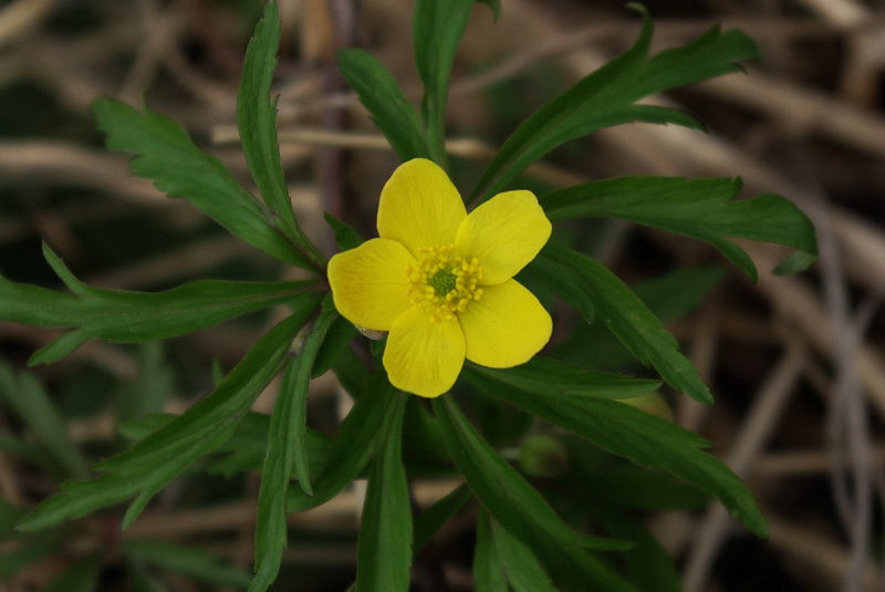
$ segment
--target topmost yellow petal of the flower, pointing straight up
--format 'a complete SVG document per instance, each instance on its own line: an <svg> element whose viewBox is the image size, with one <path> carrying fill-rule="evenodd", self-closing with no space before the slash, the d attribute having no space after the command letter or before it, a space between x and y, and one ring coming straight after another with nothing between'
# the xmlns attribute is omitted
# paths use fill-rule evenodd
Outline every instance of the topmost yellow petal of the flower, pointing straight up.
<svg viewBox="0 0 885 592"><path fill-rule="evenodd" d="M378 235L402 242L417 257L421 247L455 242L466 217L461 196L446 172L415 158L399 165L381 191Z"/></svg>

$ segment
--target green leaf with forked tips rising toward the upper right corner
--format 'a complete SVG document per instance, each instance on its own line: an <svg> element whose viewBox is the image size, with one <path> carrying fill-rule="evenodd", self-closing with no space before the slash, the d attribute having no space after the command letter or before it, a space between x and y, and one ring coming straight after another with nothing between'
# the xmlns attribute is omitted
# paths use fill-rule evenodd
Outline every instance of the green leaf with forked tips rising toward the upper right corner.
<svg viewBox="0 0 885 592"><path fill-rule="evenodd" d="M652 19L644 8L636 43L542 106L504 142L471 195L486 200L502 190L527 166L556 146L603 127L631 122L700 127L694 117L670 108L635 104L648 95L740 71L735 62L756 59L759 50L743 32L711 29L681 48L647 59Z"/></svg>

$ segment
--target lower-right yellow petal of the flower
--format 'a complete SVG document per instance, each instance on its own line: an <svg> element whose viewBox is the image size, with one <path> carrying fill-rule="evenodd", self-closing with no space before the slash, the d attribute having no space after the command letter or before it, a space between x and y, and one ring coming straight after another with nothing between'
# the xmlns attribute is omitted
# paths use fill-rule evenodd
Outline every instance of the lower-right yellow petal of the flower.
<svg viewBox="0 0 885 592"><path fill-rule="evenodd" d="M467 359L493 368L528 362L550 341L550 314L517 280L482 290L482 298L458 314Z"/></svg>

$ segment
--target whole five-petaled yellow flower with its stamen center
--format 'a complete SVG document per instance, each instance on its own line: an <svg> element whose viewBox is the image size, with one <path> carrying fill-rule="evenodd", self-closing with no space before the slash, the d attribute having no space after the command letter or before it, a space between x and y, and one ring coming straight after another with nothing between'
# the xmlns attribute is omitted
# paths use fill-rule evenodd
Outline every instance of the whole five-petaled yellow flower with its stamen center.
<svg viewBox="0 0 885 592"><path fill-rule="evenodd" d="M446 173L416 158L381 194L378 235L329 262L335 307L388 331L391 383L425 397L451 388L465 359L528 362L550 340L550 314L513 279L550 238L531 191L507 191L469 215Z"/></svg>

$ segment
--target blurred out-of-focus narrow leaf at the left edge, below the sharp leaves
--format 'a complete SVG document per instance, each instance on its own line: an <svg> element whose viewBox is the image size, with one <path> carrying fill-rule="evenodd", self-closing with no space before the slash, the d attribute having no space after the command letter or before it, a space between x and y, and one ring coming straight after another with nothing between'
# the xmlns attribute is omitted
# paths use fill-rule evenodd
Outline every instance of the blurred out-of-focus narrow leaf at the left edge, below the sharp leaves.
<svg viewBox="0 0 885 592"><path fill-rule="evenodd" d="M0 401L15 412L69 477L88 475L85 459L67 435L64 418L37 378L27 372L15 375L9 364L0 363Z"/></svg>

